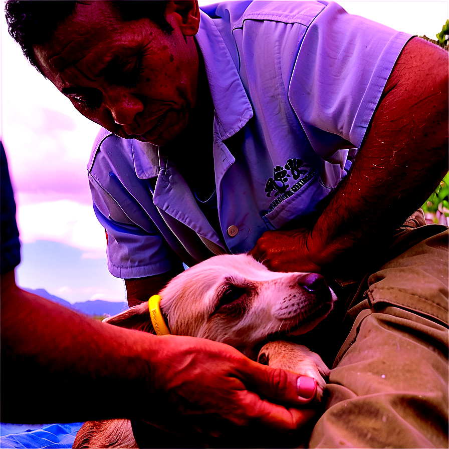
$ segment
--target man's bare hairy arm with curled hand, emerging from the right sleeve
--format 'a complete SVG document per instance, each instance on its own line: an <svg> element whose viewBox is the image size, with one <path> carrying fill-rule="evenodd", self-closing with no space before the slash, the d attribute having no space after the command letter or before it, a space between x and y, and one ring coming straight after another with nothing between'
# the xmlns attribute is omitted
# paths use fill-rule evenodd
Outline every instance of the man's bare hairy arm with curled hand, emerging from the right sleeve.
<svg viewBox="0 0 449 449"><path fill-rule="evenodd" d="M274 271L320 272L350 249L382 248L448 170L447 59L422 39L406 44L351 171L312 229L266 232L256 259Z"/></svg>

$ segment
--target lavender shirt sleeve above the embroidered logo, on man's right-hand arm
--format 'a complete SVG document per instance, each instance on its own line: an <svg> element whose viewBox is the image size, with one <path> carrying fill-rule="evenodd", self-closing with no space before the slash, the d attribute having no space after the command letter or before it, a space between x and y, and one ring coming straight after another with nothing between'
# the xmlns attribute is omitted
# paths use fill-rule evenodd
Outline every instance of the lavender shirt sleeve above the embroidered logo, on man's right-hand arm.
<svg viewBox="0 0 449 449"><path fill-rule="evenodd" d="M339 149L360 148L411 35L321 3L327 6L301 43L289 100L316 153L331 161Z"/></svg>

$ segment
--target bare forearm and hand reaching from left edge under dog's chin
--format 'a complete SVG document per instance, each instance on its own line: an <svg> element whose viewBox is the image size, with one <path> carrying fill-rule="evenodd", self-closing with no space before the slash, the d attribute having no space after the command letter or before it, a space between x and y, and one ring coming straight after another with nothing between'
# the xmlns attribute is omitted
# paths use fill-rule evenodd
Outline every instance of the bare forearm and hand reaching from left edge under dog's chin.
<svg viewBox="0 0 449 449"><path fill-rule="evenodd" d="M228 345L96 321L20 289L14 271L2 276L1 295L4 422L171 422L175 414L194 416L198 427L216 421L218 429L234 423L291 431L314 414L290 408L314 395L298 375Z"/></svg>

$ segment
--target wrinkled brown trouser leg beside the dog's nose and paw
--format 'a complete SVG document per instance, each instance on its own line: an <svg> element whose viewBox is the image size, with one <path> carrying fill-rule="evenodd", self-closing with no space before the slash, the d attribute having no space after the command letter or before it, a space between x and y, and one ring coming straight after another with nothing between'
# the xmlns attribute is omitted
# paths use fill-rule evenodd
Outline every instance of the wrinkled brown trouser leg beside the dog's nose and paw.
<svg viewBox="0 0 449 449"><path fill-rule="evenodd" d="M342 325L352 328L310 447L448 447L448 236L441 229L401 236L408 249L369 276L365 294L352 301Z"/></svg>

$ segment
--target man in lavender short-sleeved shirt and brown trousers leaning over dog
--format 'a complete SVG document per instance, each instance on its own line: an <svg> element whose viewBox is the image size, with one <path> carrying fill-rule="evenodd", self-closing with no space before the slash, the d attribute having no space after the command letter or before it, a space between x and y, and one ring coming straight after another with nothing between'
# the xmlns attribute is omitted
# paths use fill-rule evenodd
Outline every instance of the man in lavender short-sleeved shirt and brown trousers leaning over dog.
<svg viewBox="0 0 449 449"><path fill-rule="evenodd" d="M447 54L327 2L231 2L205 11L167 2L162 18L150 19L119 2L78 4L49 36L24 46L105 128L88 170L110 272L125 278L132 305L181 262L221 252L249 251L272 270L325 272L336 288L391 269L384 283L380 272L366 276L367 297L338 292L349 298L337 310L331 361L339 354L310 444L445 444L439 424L411 422L417 413L409 406L374 406L367 397L391 391L404 403L403 385L419 383L422 372L404 369L405 361L431 357L429 348L418 350L424 345L410 346L417 313L432 323L419 326L445 334L443 256L412 258L414 293L398 284L407 251L444 251L435 243L440 229L393 236L447 171ZM424 269L429 263L437 264L435 278ZM421 284L436 290L421 295ZM396 335L398 321L408 337ZM347 361L369 352L361 335L370 333L379 342L374 365L400 372L402 383L398 374L374 382L365 365L354 378ZM446 358L435 363L445 382L442 389L430 382L441 411ZM343 406L357 425L343 419ZM381 411L388 424L379 429L373 421Z"/></svg>

